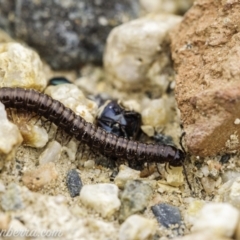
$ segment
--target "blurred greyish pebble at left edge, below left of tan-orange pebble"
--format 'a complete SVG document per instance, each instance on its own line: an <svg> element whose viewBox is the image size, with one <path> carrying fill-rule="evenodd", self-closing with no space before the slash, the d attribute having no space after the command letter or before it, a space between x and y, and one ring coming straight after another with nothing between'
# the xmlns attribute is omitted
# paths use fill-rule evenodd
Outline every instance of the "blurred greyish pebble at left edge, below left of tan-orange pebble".
<svg viewBox="0 0 240 240"><path fill-rule="evenodd" d="M8 185L7 190L1 197L1 200L0 204L4 211L13 211L24 208L19 186L15 183L10 183Z"/></svg>

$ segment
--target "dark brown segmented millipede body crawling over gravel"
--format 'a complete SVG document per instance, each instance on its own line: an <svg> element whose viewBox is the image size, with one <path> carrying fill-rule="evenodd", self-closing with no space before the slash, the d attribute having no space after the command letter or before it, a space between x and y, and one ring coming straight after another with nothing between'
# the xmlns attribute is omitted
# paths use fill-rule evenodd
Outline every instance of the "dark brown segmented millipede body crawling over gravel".
<svg viewBox="0 0 240 240"><path fill-rule="evenodd" d="M87 144L94 152L107 157L128 160L129 163L169 163L182 166L185 153L170 145L146 144L117 137L100 127L86 122L71 109L50 96L33 89L0 88L0 102L6 108L24 109L53 122L78 141Z"/></svg>

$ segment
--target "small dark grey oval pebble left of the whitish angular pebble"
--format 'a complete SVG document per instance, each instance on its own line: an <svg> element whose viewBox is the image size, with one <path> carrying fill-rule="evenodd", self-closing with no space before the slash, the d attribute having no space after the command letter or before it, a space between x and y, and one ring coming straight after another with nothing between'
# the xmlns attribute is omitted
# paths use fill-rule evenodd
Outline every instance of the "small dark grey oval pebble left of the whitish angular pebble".
<svg viewBox="0 0 240 240"><path fill-rule="evenodd" d="M77 170L71 169L67 174L67 188L72 198L80 195L82 185L83 184Z"/></svg>

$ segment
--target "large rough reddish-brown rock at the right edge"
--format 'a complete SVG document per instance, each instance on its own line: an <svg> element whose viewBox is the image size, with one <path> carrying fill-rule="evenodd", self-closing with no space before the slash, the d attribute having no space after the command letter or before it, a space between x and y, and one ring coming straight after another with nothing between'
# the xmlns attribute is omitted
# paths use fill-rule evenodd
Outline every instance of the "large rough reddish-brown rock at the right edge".
<svg viewBox="0 0 240 240"><path fill-rule="evenodd" d="M196 1L171 34L176 99L188 150L240 149L240 2Z"/></svg>

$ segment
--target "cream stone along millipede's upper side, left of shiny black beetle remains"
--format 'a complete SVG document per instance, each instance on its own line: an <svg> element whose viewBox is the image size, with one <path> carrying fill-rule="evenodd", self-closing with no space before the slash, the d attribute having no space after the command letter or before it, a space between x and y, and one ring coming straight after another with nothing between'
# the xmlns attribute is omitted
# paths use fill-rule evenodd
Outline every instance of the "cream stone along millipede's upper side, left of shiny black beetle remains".
<svg viewBox="0 0 240 240"><path fill-rule="evenodd" d="M49 86L45 93L72 109L87 122L93 123L97 114L97 104L87 99L77 86L73 84Z"/></svg>

